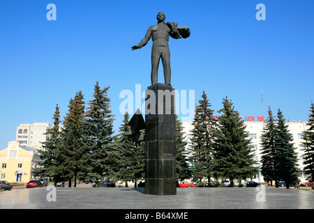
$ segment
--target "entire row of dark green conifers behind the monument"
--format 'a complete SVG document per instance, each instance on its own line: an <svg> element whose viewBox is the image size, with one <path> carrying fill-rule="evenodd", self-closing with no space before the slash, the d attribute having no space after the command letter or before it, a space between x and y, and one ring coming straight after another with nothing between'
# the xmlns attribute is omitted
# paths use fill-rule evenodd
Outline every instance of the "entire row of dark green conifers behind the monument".
<svg viewBox="0 0 314 223"><path fill-rule="evenodd" d="M53 128L47 130L47 141L40 151L38 167L33 169L34 176L52 177L54 183L61 180L74 181L92 179L96 186L104 177L125 182L144 179L144 142L135 143L124 132L129 128L129 114L119 134L114 134L114 115L110 110L109 87L100 89L98 82L94 88L93 99L85 107L82 91L70 99L68 113L60 127L60 112L57 105L54 112ZM251 151L251 139L248 139L246 125L227 97L223 99L223 108L218 111L219 120L203 91L202 99L195 107L190 147L184 137L181 121L177 119L177 179L192 179L204 183L207 178L229 178L244 180L257 174L254 165L255 155ZM308 154L308 172L313 176L313 123L314 107L311 105L309 125L304 132L305 148ZM294 183L297 180L297 156L294 153L292 135L287 130L283 114L278 109L278 120L272 116L264 125L262 136L262 174L266 180L280 180ZM192 164L189 167L188 164ZM239 181L241 182L241 181ZM287 185L289 185L287 183Z"/></svg>

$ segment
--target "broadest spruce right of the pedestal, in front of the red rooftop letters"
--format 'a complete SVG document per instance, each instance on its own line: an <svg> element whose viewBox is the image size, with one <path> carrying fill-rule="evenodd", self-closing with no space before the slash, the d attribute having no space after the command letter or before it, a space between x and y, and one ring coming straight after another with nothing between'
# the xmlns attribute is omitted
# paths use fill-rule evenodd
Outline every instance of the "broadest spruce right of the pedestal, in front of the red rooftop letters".
<svg viewBox="0 0 314 223"><path fill-rule="evenodd" d="M214 139L214 170L217 176L229 178L233 187L234 179L251 178L257 173L257 167L253 167L254 154L246 125L227 97L219 113L222 115Z"/></svg>

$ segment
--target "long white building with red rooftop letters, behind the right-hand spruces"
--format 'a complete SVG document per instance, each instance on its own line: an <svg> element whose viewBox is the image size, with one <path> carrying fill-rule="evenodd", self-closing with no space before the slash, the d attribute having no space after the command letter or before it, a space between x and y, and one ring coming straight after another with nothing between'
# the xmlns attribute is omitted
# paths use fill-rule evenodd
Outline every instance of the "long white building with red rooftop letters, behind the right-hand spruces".
<svg viewBox="0 0 314 223"><path fill-rule="evenodd" d="M257 118L246 118L246 131L249 133L249 137L252 139L252 152L255 153L254 160L257 162L256 167L259 167L261 170L262 163L260 162L261 160L261 152L262 152L262 146L261 146L261 136L263 134L263 127L265 125L264 120L261 121L254 121ZM253 121L249 121L253 120ZM306 174L304 173L304 150L302 149L302 142L304 141L301 139L301 134L305 130L308 130L308 125L306 125L306 122L301 122L301 121L289 121L286 123L288 126L288 130L290 130L290 133L293 136L293 144L295 148L295 152L297 153L297 158L298 158L298 169L299 169L299 179L301 181L306 181ZM193 125L191 122L182 122L182 126L184 128L184 134L186 135L186 139L188 141L188 147L190 148L190 137L192 137L191 130L193 129ZM253 178L253 180L257 182L264 182L264 178L261 174L261 172L258 172L257 176Z"/></svg>

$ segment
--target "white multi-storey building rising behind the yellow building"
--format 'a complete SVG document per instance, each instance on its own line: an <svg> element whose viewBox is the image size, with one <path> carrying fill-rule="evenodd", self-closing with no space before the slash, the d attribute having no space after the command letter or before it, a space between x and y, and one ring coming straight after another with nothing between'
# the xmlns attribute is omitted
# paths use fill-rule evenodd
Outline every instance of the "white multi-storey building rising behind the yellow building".
<svg viewBox="0 0 314 223"><path fill-rule="evenodd" d="M17 126L16 141L20 142L21 146L39 146L42 147L42 142L47 139L47 129L52 128L50 123L23 123Z"/></svg>

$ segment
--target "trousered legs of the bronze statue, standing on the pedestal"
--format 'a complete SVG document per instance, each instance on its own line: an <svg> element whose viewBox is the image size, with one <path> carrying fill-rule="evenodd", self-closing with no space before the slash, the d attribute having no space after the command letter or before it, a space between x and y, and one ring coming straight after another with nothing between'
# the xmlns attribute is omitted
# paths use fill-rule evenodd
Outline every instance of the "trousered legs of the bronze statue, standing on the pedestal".
<svg viewBox="0 0 314 223"><path fill-rule="evenodd" d="M151 49L151 85L158 82L158 67L160 58L163 61L163 73L165 75L165 84L170 84L170 50L169 47L154 47Z"/></svg>

